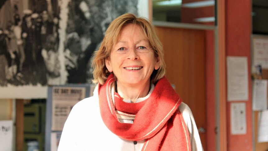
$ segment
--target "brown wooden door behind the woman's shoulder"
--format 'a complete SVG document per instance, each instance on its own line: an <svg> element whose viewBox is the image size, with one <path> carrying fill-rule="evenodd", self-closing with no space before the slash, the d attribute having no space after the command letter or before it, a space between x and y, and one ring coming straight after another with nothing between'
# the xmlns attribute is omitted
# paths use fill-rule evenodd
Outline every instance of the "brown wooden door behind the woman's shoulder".
<svg viewBox="0 0 268 151"><path fill-rule="evenodd" d="M206 130L205 31L155 27L164 47L166 76L192 110L198 129ZM206 150L206 132L200 132Z"/></svg>

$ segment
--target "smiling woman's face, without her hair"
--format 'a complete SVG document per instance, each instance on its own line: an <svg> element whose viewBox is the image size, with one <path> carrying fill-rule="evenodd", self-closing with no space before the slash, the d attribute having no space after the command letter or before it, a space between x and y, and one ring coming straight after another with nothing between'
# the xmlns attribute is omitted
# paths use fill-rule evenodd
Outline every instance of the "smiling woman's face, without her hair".
<svg viewBox="0 0 268 151"><path fill-rule="evenodd" d="M110 57L105 60L109 72L113 72L118 84L149 84L154 69L160 67L159 58L150 48L149 40L141 27L125 26Z"/></svg>

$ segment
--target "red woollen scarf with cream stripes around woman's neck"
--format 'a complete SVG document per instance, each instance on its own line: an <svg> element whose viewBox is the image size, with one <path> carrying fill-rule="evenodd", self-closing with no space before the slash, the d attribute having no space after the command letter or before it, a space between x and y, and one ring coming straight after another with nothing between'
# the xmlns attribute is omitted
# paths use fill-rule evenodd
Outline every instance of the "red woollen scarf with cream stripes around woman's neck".
<svg viewBox="0 0 268 151"><path fill-rule="evenodd" d="M140 103L126 103L138 110L124 111L127 105L116 106L119 111L136 114L133 124L118 121L112 100L114 94L111 94L113 82L114 76L111 74L104 85L99 85L98 91L100 114L110 131L122 139L132 141L146 139L142 151L191 150L188 129L178 109L181 99L165 77L155 84L155 89L149 98ZM119 98L115 96L115 102Z"/></svg>

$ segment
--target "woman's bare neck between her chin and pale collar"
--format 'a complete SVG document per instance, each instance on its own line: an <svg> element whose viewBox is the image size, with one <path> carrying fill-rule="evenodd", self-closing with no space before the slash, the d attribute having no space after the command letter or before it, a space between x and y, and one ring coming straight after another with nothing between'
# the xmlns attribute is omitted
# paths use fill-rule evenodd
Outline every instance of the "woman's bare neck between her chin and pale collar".
<svg viewBox="0 0 268 151"><path fill-rule="evenodd" d="M140 85L128 85L117 82L117 92L124 99L136 102L140 97L146 97L150 91L150 81Z"/></svg>

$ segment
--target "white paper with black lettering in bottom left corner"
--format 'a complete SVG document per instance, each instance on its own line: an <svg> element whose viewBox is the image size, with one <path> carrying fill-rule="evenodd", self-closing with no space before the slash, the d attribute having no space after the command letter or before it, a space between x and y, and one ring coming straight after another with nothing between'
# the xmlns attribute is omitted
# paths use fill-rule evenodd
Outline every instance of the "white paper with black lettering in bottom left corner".
<svg viewBox="0 0 268 151"><path fill-rule="evenodd" d="M13 122L12 120L0 120L0 150L12 150Z"/></svg>

